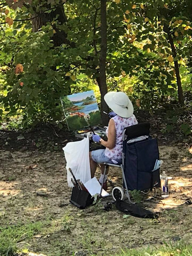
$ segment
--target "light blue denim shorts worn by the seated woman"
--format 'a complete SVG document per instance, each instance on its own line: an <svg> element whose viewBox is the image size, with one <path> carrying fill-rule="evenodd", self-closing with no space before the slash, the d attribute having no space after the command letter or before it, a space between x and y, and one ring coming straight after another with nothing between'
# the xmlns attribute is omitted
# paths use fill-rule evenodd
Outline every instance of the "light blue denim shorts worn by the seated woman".
<svg viewBox="0 0 192 256"><path fill-rule="evenodd" d="M91 157L96 163L121 164L122 159L111 159L106 157L105 149L91 151Z"/></svg>

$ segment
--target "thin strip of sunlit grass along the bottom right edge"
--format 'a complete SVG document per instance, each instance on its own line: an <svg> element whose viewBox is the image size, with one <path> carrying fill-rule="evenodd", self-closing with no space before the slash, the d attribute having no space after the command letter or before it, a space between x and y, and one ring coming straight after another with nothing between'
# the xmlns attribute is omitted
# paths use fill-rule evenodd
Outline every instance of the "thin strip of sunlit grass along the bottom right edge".
<svg viewBox="0 0 192 256"><path fill-rule="evenodd" d="M147 247L141 249L121 250L120 254L116 256L189 256L192 255L192 244L178 243L164 243L164 245L157 247Z"/></svg>

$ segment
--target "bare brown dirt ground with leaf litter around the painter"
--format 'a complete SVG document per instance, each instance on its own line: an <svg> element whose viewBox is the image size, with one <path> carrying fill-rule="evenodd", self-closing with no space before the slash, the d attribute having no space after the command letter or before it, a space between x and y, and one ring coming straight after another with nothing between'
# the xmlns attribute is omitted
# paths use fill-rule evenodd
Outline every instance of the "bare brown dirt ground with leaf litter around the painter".
<svg viewBox="0 0 192 256"><path fill-rule="evenodd" d="M159 218L140 219L123 218L114 205L105 211L103 205L110 197L84 210L71 205L62 150L1 149L1 227L40 221L40 231L25 242L30 244L26 246L29 252L47 256L115 255L120 248L192 242L192 205L188 204L192 200L192 149L177 145L159 146L159 150L164 160L161 172L173 177L170 196L142 203L158 212ZM121 183L120 170L111 168L109 178Z"/></svg>

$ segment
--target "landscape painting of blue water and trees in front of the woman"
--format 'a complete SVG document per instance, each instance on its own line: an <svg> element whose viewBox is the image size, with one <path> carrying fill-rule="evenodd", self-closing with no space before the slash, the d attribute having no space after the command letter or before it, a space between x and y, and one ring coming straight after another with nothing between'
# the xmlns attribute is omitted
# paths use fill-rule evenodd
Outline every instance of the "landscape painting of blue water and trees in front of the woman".
<svg viewBox="0 0 192 256"><path fill-rule="evenodd" d="M69 130L79 130L101 123L94 91L76 93L61 98Z"/></svg>

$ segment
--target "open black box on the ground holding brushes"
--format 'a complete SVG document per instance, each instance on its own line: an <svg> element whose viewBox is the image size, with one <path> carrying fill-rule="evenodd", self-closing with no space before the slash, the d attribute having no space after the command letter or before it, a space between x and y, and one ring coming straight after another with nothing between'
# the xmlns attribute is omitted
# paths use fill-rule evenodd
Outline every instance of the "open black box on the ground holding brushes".
<svg viewBox="0 0 192 256"><path fill-rule="evenodd" d="M85 207L92 205L94 198L91 198L89 192L79 190L76 187L72 188L72 197L70 203L77 206L80 209L84 209Z"/></svg>

